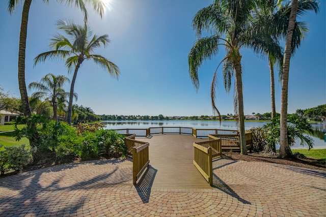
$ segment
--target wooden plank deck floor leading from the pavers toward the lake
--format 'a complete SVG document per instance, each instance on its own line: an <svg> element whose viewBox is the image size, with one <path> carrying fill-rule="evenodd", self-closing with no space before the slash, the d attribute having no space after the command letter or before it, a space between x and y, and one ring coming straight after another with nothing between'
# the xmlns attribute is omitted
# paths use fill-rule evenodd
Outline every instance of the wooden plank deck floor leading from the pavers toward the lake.
<svg viewBox="0 0 326 217"><path fill-rule="evenodd" d="M152 189L210 189L210 185L193 164L195 141L203 141L187 135L156 135L149 142Z"/></svg>

